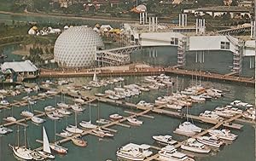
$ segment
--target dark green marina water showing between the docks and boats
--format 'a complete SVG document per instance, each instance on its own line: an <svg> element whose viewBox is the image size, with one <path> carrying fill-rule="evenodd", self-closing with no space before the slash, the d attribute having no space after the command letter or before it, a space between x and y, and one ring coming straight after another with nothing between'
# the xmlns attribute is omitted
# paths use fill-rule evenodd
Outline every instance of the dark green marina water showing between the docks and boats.
<svg viewBox="0 0 256 161"><path fill-rule="evenodd" d="M90 78L67 78L68 80L73 80L74 84L81 84L86 83L90 80ZM42 80L38 80L42 81ZM181 81L181 78L179 79ZM141 83L140 77L130 77L125 78L125 83ZM189 83L191 83L191 80L188 78L184 79L184 85L187 86ZM206 82L207 83L207 82ZM221 89L227 89L230 90L230 92L227 92L225 94L225 97L220 98L218 100L213 101L207 101L203 104L195 104L192 106L191 110L189 110L190 113L193 114L199 114L200 112L203 112L204 110L211 110L215 106L221 106L224 104L230 103L230 101L233 101L234 98L241 99L242 101L247 101L249 103L253 103L253 88L250 87L241 87L239 85L233 85L229 83L207 83L214 87L218 87ZM5 88L8 88L7 86ZM105 89L113 89L113 86L108 86ZM92 94L94 92L101 91L101 89L93 89L92 91L88 91L88 94ZM170 92L167 89L160 89L151 91L150 93L143 93L143 95L127 99L126 101L137 103L137 101L145 100L154 102L154 99L160 95L166 95L167 92ZM33 94L30 94L33 95ZM13 100L20 100L23 96L26 96L25 93L22 95L18 95L12 98L8 98L9 101ZM65 97L65 101L68 103L72 103L72 99L69 97ZM56 97L57 101L61 101L61 96ZM108 118L108 116L112 113L118 112L121 115L128 116L127 113L125 113L125 110L131 111L131 112L138 112L134 109L129 108L123 108L119 106L113 106L108 105L105 103L99 103L95 102L97 106L91 106L91 118L92 123L96 123L97 118ZM55 98L49 98L45 101L38 101L37 105L32 106L33 110L39 110L43 111L44 106L48 105L55 105ZM89 120L89 107L84 106L86 109L82 114L78 114L78 123L81 120ZM13 114L16 118L22 118L20 116L20 112L28 109L28 106L20 106L20 107L14 107ZM6 118L7 116L12 114L12 110L3 110L0 112L0 119ZM82 148L82 147L76 147L73 145L71 141L61 144L63 147L67 147L68 153L65 156L55 155L55 160L106 160L106 159L112 159L116 160L115 152L119 147L122 147L123 145L134 142L138 144L146 143L149 145L155 145L154 140L152 139L152 135L165 135L169 134L172 135L173 138L177 141L182 141L186 139L186 137L175 135L172 133L174 129L176 129L177 125L182 123L184 120L181 120L179 118L172 118L167 117L155 113L150 113L150 115L154 116L154 119L151 118L142 118L139 119L143 120L143 125L140 127L133 127L131 126L131 129L120 127L120 126L113 126L112 129L117 129L118 132L114 134L113 139L98 139L96 136L92 135L86 135L84 136L84 139L88 141L88 147ZM47 118L47 121L44 123L45 129L47 130L49 141L54 141L55 137L55 130L56 132L61 132L61 129L65 129L67 124L75 124L74 121L74 114L67 117L62 118L61 121L56 121L56 129L54 127L54 121L49 120ZM3 121L2 121L3 123ZM31 121L27 122L28 128L26 129L26 135L27 135L27 145L31 148L36 148L40 146L40 143L36 142L35 140L42 140L42 125L35 125L32 124ZM127 123L125 123L127 124ZM203 128L210 128L210 124L200 124L195 123ZM11 126L11 129L16 130L16 126ZM21 127L20 127L21 129ZM243 160L253 160L254 157L254 129L252 125L245 124L242 130L232 130L233 133L239 135L238 139L234 141L231 145L225 146L220 149L220 152L213 153L210 156L206 155L204 157L198 157L196 160L201 161L217 161L217 160L230 160L232 158L233 161L241 161ZM20 130L20 145L24 144L23 139L23 130ZM8 147L8 144L16 144L16 138L17 134L16 132L11 133L9 135L3 135L0 137L1 141L1 157L3 160L15 160L11 150ZM56 139L60 139L58 136L56 136ZM247 148L246 151L243 151L241 154L241 150L244 148ZM213 156L212 156L213 155Z"/></svg>

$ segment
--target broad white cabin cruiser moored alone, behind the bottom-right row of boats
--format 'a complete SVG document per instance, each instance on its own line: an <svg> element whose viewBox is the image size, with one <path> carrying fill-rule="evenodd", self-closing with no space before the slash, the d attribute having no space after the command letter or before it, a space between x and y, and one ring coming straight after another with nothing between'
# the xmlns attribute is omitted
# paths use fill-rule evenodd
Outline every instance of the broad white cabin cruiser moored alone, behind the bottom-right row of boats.
<svg viewBox="0 0 256 161"><path fill-rule="evenodd" d="M180 124L177 129L175 129L175 132L181 135L195 135L196 133L201 132L201 128L195 126L195 124L190 123L189 121L184 122L183 124Z"/></svg>

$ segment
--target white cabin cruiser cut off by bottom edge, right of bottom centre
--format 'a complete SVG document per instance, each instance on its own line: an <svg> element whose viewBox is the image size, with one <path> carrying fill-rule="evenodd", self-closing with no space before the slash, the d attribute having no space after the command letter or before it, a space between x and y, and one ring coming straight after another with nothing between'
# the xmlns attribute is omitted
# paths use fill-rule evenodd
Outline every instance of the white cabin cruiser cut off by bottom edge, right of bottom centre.
<svg viewBox="0 0 256 161"><path fill-rule="evenodd" d="M195 161L183 152L177 152L177 149L171 145L161 148L158 153L161 161Z"/></svg>

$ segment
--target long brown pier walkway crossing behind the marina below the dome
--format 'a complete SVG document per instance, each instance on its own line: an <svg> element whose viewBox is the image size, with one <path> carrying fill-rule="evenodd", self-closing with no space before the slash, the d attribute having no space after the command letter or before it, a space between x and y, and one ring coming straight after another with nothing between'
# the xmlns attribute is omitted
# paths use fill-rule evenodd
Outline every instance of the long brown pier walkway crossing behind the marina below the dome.
<svg viewBox="0 0 256 161"><path fill-rule="evenodd" d="M39 78L60 78L60 77L91 77L95 73L91 70L81 70L81 71L52 71L41 69ZM141 67L141 68L129 68L127 70L119 70L118 68L113 70L97 70L96 74L98 76L147 76L147 75L159 75L160 73L183 75L188 77L200 77L205 80L218 80L222 82L236 82L236 83L246 83L247 85L255 84L254 78L245 78L234 76L233 73L230 74L219 74L213 72L203 72L203 71L191 71L185 69L179 69L176 67Z"/></svg>

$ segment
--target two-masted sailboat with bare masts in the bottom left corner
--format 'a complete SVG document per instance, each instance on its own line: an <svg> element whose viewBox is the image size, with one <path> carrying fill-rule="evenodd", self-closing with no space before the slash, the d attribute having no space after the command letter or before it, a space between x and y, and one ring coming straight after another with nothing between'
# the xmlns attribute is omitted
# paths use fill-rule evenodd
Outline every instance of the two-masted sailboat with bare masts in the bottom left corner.
<svg viewBox="0 0 256 161"><path fill-rule="evenodd" d="M12 149L12 151L14 152L15 156L17 156L18 158L22 158L25 160L32 160L33 159L33 152L30 149L26 148L26 129L24 129L24 137L25 137L25 146L24 147L20 147L19 145L19 126L18 126L18 146L12 146L9 144L9 147Z"/></svg>

